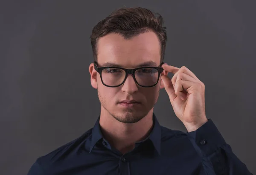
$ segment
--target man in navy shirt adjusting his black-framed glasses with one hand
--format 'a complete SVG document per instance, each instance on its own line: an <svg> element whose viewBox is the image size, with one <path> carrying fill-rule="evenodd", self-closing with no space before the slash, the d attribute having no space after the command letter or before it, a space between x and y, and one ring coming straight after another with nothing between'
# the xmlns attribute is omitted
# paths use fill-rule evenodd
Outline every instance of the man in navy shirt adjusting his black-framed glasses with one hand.
<svg viewBox="0 0 256 175"><path fill-rule="evenodd" d="M166 40L162 17L145 8L121 8L99 22L89 66L99 119L38 158L28 174L251 175L207 119L203 82L184 66L163 63ZM153 107L161 88L187 133L158 123Z"/></svg>

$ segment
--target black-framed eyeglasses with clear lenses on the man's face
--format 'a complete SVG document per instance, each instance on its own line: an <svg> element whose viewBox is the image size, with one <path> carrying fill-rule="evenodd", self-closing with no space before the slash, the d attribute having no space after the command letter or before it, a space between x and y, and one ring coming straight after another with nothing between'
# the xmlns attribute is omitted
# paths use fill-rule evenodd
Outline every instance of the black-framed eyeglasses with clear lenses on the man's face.
<svg viewBox="0 0 256 175"><path fill-rule="evenodd" d="M145 88L150 88L157 85L160 74L163 72L161 67L140 67L135 69L125 69L119 67L98 67L97 62L94 62L94 69L99 72L102 84L107 87L118 87L122 85L128 77L132 74L134 81Z"/></svg>

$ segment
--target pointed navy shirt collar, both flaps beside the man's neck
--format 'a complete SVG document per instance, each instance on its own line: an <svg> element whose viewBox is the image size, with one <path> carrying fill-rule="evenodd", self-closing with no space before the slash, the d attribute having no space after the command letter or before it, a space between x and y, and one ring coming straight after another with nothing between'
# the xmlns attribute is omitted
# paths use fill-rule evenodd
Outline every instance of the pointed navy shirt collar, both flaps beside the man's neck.
<svg viewBox="0 0 256 175"><path fill-rule="evenodd" d="M102 132L100 129L100 125L99 125L99 118L100 117L98 117L98 119L93 127L93 130L92 130L90 152L93 150L93 147L95 146L95 144L100 139L103 138ZM158 154L160 155L160 153L161 153L161 127L160 127L160 124L157 121L157 117L155 116L154 113L153 113L153 124L154 124L153 129L151 130L151 133L148 136L148 138L146 138L145 140L150 139L154 145L155 150L157 150ZM143 141L141 141L141 142L143 142Z"/></svg>

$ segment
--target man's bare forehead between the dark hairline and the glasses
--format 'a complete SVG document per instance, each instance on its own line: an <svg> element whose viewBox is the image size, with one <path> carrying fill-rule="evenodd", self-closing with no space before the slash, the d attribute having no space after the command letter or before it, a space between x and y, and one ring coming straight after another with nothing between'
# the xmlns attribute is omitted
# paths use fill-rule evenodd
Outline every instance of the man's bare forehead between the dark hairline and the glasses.
<svg viewBox="0 0 256 175"><path fill-rule="evenodd" d="M154 33L144 33L130 40L108 34L98 41L100 67L137 68L160 65L160 45Z"/></svg>

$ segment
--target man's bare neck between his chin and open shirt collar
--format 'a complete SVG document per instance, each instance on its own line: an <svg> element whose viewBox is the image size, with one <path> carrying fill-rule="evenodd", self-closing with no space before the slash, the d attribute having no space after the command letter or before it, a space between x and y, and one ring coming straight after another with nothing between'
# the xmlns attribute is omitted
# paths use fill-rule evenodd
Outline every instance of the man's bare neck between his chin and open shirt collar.
<svg viewBox="0 0 256 175"><path fill-rule="evenodd" d="M121 123L109 113L101 112L99 124L103 137L123 154L134 149L135 143L148 137L153 127L153 109L137 123Z"/></svg>

